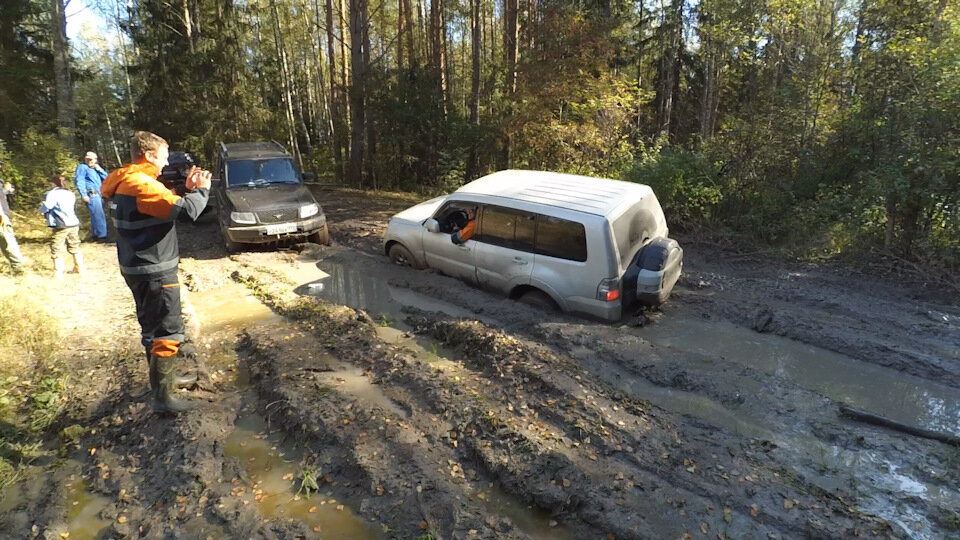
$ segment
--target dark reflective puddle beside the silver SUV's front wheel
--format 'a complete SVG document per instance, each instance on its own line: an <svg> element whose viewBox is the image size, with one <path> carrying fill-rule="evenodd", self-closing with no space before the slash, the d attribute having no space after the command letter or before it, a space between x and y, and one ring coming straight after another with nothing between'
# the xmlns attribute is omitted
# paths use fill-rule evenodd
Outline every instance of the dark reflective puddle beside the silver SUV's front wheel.
<svg viewBox="0 0 960 540"><path fill-rule="evenodd" d="M363 309L377 319L403 319L403 306L413 306L424 311L439 311L451 317L476 317L467 310L428 296L394 287L387 279L358 272L342 264L324 261L328 277L318 282L306 283L297 288L299 294L317 296L324 300ZM322 285L322 286L318 286Z"/></svg>

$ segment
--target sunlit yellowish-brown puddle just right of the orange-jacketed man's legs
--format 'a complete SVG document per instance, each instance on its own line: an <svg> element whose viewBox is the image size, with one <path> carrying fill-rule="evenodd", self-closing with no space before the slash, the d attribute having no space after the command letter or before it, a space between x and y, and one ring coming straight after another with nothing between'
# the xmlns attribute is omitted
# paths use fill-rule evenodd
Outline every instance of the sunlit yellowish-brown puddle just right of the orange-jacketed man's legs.
<svg viewBox="0 0 960 540"><path fill-rule="evenodd" d="M217 332L237 333L253 325L271 324L282 318L250 295L239 283L227 283L190 296L197 313L202 313L203 335Z"/></svg>

